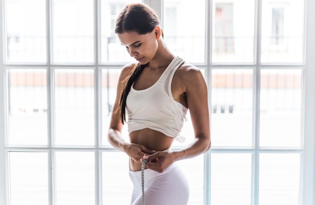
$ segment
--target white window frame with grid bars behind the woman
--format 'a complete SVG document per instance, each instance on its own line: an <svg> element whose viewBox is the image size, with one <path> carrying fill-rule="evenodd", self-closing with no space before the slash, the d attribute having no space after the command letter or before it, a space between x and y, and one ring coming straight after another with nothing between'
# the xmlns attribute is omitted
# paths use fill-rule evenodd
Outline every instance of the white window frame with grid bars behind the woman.
<svg viewBox="0 0 315 205"><path fill-rule="evenodd" d="M143 0L144 3L150 5L152 8L155 9L155 11L160 11L160 15L163 18L163 0ZM236 68L240 67L240 63L237 64L222 64L222 63L211 63L211 25L212 22L211 19L211 2L212 1L206 1L206 50L205 50L205 63L197 64L201 69L205 69L205 78L208 84L211 84L211 69L225 69L225 68ZM259 85L259 79L260 79L260 69L268 69L270 65L268 64L261 64L260 63L260 53L258 52L260 50L260 36L261 36L261 5L262 0L255 0L256 8L255 8L255 47L254 47L254 64L242 64L243 68L253 69L254 76L253 76L253 82L254 82L254 112L253 112L253 148L223 148L223 147L212 147L209 152L204 154L204 177L205 177L205 183L204 183L204 204L210 204L210 160L211 160L211 153L244 153L244 152L250 152L252 153L252 205L258 205L258 198L259 198L259 192L258 192L258 186L259 186L259 153L301 153L301 187L300 187L300 204L301 205L308 205L308 204L315 204L315 95L313 94L315 92L315 81L313 80L313 76L315 76L315 58L313 58L313 53L315 53L315 39L313 36L315 36L315 27L312 26L306 26L312 25L312 20L315 19L315 13L313 12L315 10L315 1L311 0L305 0L304 1L304 17L306 19L305 25L304 25L304 63L302 64L279 64L276 65L277 68L283 68L283 67L290 67L290 68L301 68L302 70L302 112L301 112L301 119L302 119L302 147L296 148L296 149L286 149L286 148L259 148L259 93L260 93L260 85ZM68 150L76 150L76 151L92 151L95 152L95 172L96 172L96 204L102 204L102 187L101 187L101 181L102 181L102 152L103 151L116 151L115 149L107 146L101 146L101 138L103 136L102 134L102 104L101 104L101 76L102 76L102 69L107 68L115 68L120 69L123 64L110 64L110 63L100 63L100 45L98 42L100 42L100 30L98 30L99 27L99 21L100 21L100 0L94 0L94 12L95 12L95 28L94 28L94 34L95 34L95 58L94 63L88 64L88 65L66 65L68 67L94 67L95 69L95 146L52 146L52 140L53 140L53 116L51 115L51 111L53 111L53 86L51 85L51 82L53 80L53 70L54 68L58 68L60 65L58 64L51 64L52 62L52 54L50 52L52 42L50 39L51 36L51 0L46 0L46 11L47 11L47 24L49 26L46 26L47 29L47 63L43 64L14 64L14 63L5 63L4 59L4 53L6 53L5 50L5 14L4 14L4 8L5 8L5 0L2 0L0 2L0 99L5 99L6 97L6 70L13 67L19 67L19 68L26 68L26 67L34 67L34 68L42 68L45 67L47 69L47 91L48 91L48 124L51 126L48 126L48 132L49 132L49 139L47 146L15 146L15 145L8 145L7 140L5 137L0 138L0 203L1 204L9 204L9 192L7 190L7 187L9 185L8 183L8 152L10 151L34 151L34 152L48 152L49 156L49 165L51 165L52 169L49 169L49 204L54 205L54 191L53 186L51 184L51 180L53 180L54 177L54 158L52 157L54 155L55 151L68 151ZM48 18L49 17L49 18ZM161 20L162 20L161 18ZM163 21L162 21L163 22ZM306 43L307 41L307 43ZM272 65L274 66L274 64ZM50 69L49 69L50 68ZM211 87L209 86L209 91L211 91ZM209 95L209 104L211 105L211 96ZM0 100L0 136L7 136L7 123L6 123L6 108L7 108L7 102L4 100ZM304 136L304 137L303 137ZM51 171L52 170L52 171Z"/></svg>

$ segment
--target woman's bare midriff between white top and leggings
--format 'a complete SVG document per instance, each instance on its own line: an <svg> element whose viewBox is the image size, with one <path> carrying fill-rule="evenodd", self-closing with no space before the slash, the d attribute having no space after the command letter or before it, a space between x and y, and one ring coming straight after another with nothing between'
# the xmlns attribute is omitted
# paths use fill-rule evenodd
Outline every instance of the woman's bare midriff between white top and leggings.
<svg viewBox="0 0 315 205"><path fill-rule="evenodd" d="M168 137L161 132L148 128L133 131L129 134L129 138L130 143L143 145L147 149L155 151L164 151L170 149L174 141L174 138ZM129 159L129 169L131 171L139 171L141 170L141 163Z"/></svg>

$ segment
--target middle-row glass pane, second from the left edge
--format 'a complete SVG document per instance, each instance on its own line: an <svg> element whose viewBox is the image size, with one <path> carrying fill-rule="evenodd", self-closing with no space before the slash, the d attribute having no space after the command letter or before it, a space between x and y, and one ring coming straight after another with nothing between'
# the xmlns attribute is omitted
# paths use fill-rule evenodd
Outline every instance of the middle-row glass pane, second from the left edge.
<svg viewBox="0 0 315 205"><path fill-rule="evenodd" d="M94 145L94 71L55 70L55 144Z"/></svg>

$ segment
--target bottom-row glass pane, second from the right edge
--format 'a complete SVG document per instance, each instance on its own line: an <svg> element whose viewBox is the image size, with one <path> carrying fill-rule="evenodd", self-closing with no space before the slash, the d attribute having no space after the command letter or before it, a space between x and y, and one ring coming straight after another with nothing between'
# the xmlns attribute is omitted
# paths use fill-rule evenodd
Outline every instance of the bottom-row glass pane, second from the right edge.
<svg viewBox="0 0 315 205"><path fill-rule="evenodd" d="M252 154L211 154L211 204L250 205Z"/></svg>

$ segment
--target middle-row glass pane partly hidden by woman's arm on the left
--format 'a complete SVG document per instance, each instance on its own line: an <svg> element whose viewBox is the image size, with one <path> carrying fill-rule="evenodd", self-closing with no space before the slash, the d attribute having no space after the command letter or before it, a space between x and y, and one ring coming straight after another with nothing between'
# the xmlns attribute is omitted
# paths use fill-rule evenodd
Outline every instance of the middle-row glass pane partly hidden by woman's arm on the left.
<svg viewBox="0 0 315 205"><path fill-rule="evenodd" d="M121 69L102 70L102 111L103 111L103 140L102 145L109 145L107 131L109 128L112 109L116 99L117 83ZM127 125L123 127L122 135L125 141L129 141Z"/></svg>

